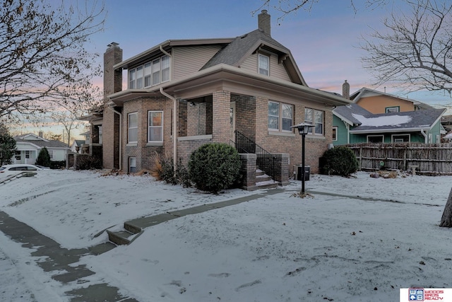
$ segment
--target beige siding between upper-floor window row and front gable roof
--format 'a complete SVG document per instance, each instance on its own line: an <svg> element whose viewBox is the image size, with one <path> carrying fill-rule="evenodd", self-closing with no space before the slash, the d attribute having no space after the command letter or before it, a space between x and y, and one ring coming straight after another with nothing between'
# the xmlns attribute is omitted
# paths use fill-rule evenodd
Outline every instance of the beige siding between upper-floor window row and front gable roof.
<svg viewBox="0 0 452 302"><path fill-rule="evenodd" d="M172 79L181 79L199 71L220 46L174 47L172 50Z"/></svg>

